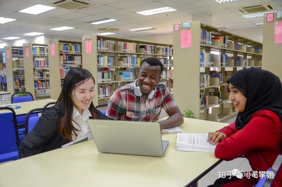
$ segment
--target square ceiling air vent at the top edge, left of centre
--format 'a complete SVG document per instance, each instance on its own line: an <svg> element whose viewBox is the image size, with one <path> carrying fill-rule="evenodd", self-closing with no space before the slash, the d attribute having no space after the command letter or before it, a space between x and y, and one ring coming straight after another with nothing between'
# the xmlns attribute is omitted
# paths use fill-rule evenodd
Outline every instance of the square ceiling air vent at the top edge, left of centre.
<svg viewBox="0 0 282 187"><path fill-rule="evenodd" d="M55 1L54 3L51 3L50 5L60 7L60 8L66 8L69 10L81 10L83 8L96 6L96 4L90 4L90 3L85 3L83 1L76 1L76 0L60 0L60 1Z"/></svg>

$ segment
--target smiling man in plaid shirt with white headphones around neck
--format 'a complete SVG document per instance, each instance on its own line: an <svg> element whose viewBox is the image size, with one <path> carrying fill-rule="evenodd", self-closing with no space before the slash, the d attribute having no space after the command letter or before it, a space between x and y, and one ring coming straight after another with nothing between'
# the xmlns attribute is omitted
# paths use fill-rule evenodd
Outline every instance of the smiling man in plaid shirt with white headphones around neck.
<svg viewBox="0 0 282 187"><path fill-rule="evenodd" d="M169 118L160 121L161 130L177 127L183 117L166 86L160 83L164 66L157 58L142 60L138 79L118 90L108 101L106 116L127 121L156 121L164 108Z"/></svg>

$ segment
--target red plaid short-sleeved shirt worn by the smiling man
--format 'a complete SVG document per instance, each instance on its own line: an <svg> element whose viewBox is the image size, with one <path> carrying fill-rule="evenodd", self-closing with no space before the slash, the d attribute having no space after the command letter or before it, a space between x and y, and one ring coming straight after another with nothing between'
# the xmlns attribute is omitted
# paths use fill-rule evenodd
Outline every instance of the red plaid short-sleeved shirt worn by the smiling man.
<svg viewBox="0 0 282 187"><path fill-rule="evenodd" d="M177 106L168 88L159 83L153 99L147 95L141 97L134 93L134 83L127 84L114 91L108 101L106 116L127 121L156 121L161 109L168 110Z"/></svg>

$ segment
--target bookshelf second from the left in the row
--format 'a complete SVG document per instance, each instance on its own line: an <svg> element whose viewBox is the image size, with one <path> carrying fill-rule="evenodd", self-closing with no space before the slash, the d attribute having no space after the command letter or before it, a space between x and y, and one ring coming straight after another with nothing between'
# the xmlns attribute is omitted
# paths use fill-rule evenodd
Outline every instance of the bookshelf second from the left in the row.
<svg viewBox="0 0 282 187"><path fill-rule="evenodd" d="M35 99L50 98L47 45L28 43L23 46L26 91L32 93Z"/></svg>

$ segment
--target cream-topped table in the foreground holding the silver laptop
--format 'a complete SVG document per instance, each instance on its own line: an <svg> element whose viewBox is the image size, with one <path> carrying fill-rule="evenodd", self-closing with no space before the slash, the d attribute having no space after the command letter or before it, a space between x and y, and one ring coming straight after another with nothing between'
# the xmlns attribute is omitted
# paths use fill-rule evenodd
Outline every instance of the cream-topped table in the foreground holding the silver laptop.
<svg viewBox="0 0 282 187"><path fill-rule="evenodd" d="M186 133L208 133L224 123L184 118ZM146 133L144 133L146 138ZM180 152L177 134L164 157L99 153L94 140L0 165L0 186L196 186L221 160L214 153Z"/></svg>

